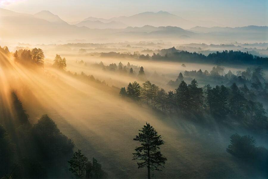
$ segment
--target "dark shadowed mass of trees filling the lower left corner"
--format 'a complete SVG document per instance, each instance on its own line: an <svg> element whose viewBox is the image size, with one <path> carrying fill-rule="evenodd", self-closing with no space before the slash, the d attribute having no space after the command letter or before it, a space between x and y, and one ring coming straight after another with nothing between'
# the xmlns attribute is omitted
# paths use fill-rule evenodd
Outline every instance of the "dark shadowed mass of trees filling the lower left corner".
<svg viewBox="0 0 268 179"><path fill-rule="evenodd" d="M4 98L0 100L5 104ZM11 101L11 109L0 106L0 178L71 178L67 161L73 141L46 114L31 125L15 92ZM95 159L93 166L101 167ZM100 178L97 174L90 177Z"/></svg>

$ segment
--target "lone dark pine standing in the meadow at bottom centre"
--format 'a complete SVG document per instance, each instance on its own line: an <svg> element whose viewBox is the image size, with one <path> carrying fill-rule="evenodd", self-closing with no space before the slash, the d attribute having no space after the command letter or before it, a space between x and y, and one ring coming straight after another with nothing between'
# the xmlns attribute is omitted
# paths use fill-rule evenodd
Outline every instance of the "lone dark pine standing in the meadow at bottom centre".
<svg viewBox="0 0 268 179"><path fill-rule="evenodd" d="M161 135L158 135L156 130L147 122L146 126L139 131L141 133L136 135L133 140L140 141L141 146L135 148L136 152L133 153L132 160L140 161L137 161L138 168L147 167L148 179L150 179L150 170L162 171L159 167L164 167L167 160L159 151L159 146L164 144L164 141L161 139Z"/></svg>

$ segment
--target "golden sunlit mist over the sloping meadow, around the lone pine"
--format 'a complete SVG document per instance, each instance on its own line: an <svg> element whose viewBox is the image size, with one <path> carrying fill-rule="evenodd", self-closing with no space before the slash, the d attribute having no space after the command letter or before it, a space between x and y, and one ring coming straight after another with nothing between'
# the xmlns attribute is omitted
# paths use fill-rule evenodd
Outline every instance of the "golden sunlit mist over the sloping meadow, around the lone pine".
<svg viewBox="0 0 268 179"><path fill-rule="evenodd" d="M5 102L2 105L7 110L11 109L10 91L15 91L29 114L31 124L35 124L41 115L48 114L60 131L74 141L76 149L81 149L90 158L98 158L109 178L146 177L145 169L138 170L135 161L131 160L137 146L133 138L146 122L154 126L166 142L161 150L168 161L163 172L152 173L155 178L247 177L247 173L226 152L230 135L239 131L216 123L214 130L204 129L183 116L163 115L118 95L122 86L126 87L132 81L142 84L147 77L166 91L174 90L167 86L167 82L177 78L180 72L210 70L214 65L184 63L186 67L182 67L181 63L176 62L94 56L80 56L78 59L60 54L67 59L68 73L55 69L51 65L54 55L46 53L44 68L21 65L14 62L12 56L0 54L1 98ZM81 60L84 63L79 64ZM121 61L124 65L129 62L137 67L143 66L146 78L95 67L94 64L100 61L104 65ZM243 69L226 67L225 70ZM75 72L94 75L101 81L105 80L107 85L78 78ZM154 77L155 73L159 76ZM112 90L112 85L118 91Z"/></svg>

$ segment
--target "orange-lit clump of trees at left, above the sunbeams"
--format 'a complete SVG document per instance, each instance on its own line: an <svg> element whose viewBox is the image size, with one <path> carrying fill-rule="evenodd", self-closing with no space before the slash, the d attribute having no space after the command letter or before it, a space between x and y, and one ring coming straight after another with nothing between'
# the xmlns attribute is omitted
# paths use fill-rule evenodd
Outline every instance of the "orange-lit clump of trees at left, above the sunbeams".
<svg viewBox="0 0 268 179"><path fill-rule="evenodd" d="M40 48L34 48L32 50L16 50L13 53L14 61L21 64L37 64L41 67L44 66L45 55Z"/></svg>

